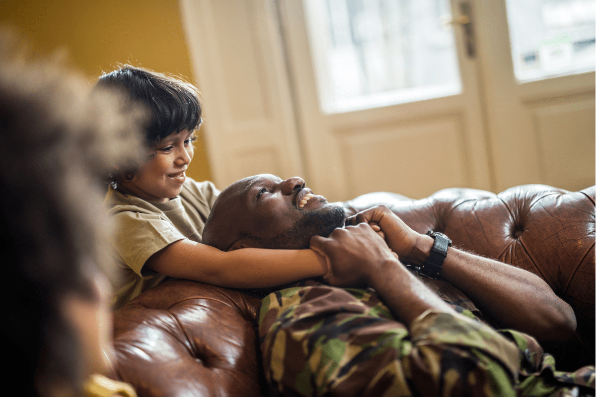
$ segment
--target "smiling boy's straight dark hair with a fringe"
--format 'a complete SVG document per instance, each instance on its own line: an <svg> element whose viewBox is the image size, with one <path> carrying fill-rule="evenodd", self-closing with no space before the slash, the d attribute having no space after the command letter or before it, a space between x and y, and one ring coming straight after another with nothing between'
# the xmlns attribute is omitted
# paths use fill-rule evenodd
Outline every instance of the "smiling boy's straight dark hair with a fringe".
<svg viewBox="0 0 596 397"><path fill-rule="evenodd" d="M203 121L200 92L180 77L123 65L104 73L97 87L121 90L132 99L131 105L141 104L148 110L145 143L149 148L154 148L172 133L198 129ZM138 171L138 164L120 165L119 168L125 180L131 180ZM119 176L120 173L113 174L110 182Z"/></svg>

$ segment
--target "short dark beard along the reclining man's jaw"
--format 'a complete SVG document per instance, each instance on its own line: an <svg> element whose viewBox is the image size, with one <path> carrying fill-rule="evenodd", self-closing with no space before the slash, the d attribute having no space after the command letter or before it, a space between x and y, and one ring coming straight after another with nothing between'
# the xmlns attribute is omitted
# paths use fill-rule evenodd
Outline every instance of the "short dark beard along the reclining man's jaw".
<svg viewBox="0 0 596 397"><path fill-rule="evenodd" d="M327 205L320 210L305 211L285 232L274 237L262 238L243 233L262 248L268 249L304 249L309 248L312 236L327 237L338 227L343 227L346 211L339 205Z"/></svg>

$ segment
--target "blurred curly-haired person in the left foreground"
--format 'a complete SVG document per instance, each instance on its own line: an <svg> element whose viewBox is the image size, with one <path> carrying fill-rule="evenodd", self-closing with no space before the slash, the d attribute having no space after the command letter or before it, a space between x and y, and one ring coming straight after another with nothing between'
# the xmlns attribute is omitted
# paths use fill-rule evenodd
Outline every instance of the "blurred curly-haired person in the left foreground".
<svg viewBox="0 0 596 397"><path fill-rule="evenodd" d="M136 111L0 32L1 333L23 396L134 396L110 373L107 224L98 181L136 141Z"/></svg>

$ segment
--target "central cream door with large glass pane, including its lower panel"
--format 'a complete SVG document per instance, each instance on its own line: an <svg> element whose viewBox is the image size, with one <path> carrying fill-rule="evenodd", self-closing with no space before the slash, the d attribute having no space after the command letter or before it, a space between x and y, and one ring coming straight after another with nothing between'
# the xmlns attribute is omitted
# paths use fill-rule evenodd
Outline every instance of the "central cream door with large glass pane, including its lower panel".
<svg viewBox="0 0 596 397"><path fill-rule="evenodd" d="M279 3L315 192L493 188L473 32L443 26L448 1Z"/></svg>

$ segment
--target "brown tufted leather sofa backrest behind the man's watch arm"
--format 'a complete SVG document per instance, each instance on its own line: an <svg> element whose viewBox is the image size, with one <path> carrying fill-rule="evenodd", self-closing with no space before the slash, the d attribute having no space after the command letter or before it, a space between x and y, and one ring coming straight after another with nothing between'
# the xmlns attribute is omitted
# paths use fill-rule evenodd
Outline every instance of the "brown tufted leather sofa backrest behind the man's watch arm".
<svg viewBox="0 0 596 397"><path fill-rule="evenodd" d="M594 186L567 192L523 185L498 195L445 189L415 201L394 193L370 193L344 206L353 214L385 204L419 233L443 232L458 248L542 277L571 305L578 320L572 340L558 352L558 361L573 361L561 362L569 367L582 359L594 364L594 195ZM578 351L585 357L578 357ZM569 357L563 357L565 352Z"/></svg>

